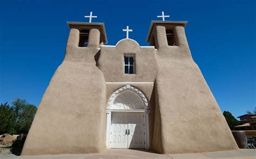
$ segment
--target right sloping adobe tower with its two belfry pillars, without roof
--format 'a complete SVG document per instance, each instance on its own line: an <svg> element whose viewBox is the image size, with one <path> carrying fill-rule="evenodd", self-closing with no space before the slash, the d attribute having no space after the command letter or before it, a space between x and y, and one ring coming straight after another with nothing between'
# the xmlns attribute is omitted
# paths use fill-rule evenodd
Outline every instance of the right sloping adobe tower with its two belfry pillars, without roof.
<svg viewBox="0 0 256 159"><path fill-rule="evenodd" d="M183 26L174 28L178 46L168 46L165 26L156 26L156 94L161 129L153 150L164 154L238 149L233 135L197 64ZM156 107L158 107L156 104Z"/></svg>

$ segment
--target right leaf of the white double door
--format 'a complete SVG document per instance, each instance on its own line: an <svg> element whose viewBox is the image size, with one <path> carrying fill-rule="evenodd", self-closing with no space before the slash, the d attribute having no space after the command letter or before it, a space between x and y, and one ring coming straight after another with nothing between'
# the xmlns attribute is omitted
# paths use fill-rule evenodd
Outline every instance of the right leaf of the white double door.
<svg viewBox="0 0 256 159"><path fill-rule="evenodd" d="M145 148L145 128L142 112L128 114L128 148Z"/></svg>

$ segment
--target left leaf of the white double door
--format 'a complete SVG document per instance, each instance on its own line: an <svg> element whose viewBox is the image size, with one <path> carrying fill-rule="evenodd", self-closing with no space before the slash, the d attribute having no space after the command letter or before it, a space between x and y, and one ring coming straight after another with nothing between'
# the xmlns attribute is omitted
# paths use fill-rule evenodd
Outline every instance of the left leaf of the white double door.
<svg viewBox="0 0 256 159"><path fill-rule="evenodd" d="M111 124L111 148L127 148L127 113L113 112Z"/></svg>

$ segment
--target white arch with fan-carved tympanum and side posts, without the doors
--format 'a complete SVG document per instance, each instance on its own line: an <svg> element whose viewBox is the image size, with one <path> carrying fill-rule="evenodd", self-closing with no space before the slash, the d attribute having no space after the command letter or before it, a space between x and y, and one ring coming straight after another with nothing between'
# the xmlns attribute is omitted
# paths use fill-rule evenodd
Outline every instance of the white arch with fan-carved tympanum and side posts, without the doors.
<svg viewBox="0 0 256 159"><path fill-rule="evenodd" d="M127 84L114 91L107 102L106 113L106 147L111 143L112 112L140 112L143 113L145 125L145 149L149 148L149 113L150 106L147 98L138 88Z"/></svg>

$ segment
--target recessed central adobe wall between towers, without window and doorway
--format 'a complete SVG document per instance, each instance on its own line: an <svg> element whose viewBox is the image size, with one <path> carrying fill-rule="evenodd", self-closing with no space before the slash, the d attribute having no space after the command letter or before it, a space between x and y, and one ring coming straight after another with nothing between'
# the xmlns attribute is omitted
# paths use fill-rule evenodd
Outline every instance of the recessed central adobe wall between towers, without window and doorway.
<svg viewBox="0 0 256 159"><path fill-rule="evenodd" d="M124 74L124 54L135 56L135 74ZM97 66L104 74L106 82L106 103L112 93L129 82L130 85L142 91L150 105L149 130L150 142L152 141L154 129L154 79L159 70L156 49L154 47L140 47L132 39L122 39L116 46L101 46ZM124 83L122 83L124 82ZM153 115L151 115L153 114ZM150 145L151 147L151 145Z"/></svg>

